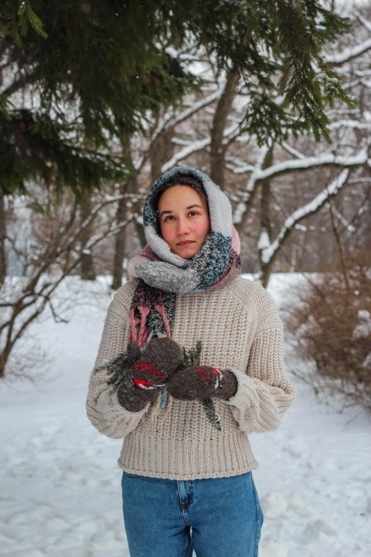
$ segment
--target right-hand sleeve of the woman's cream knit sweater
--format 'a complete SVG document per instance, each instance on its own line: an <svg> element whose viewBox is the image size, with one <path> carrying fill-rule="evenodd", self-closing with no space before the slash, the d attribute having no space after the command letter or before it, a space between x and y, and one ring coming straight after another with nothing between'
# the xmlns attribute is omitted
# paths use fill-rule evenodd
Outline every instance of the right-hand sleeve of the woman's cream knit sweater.
<svg viewBox="0 0 371 557"><path fill-rule="evenodd" d="M246 373L231 370L238 387L226 401L239 428L246 433L276 429L295 397L294 386L285 374L282 321L273 299L262 290L248 367Z"/></svg>

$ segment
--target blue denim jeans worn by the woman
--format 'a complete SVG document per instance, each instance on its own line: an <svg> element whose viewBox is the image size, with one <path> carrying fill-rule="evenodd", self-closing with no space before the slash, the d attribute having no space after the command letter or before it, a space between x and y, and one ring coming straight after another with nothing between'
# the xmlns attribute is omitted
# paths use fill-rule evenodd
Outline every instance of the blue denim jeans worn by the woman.
<svg viewBox="0 0 371 557"><path fill-rule="evenodd" d="M123 472L130 557L257 557L263 523L251 472L166 480Z"/></svg>

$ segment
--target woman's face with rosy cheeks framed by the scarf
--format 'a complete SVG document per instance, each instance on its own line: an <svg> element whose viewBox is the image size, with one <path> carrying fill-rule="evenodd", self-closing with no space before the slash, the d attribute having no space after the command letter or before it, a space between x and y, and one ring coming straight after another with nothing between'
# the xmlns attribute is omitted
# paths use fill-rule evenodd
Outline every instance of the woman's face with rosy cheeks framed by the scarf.
<svg viewBox="0 0 371 557"><path fill-rule="evenodd" d="M171 251L184 259L193 258L210 230L202 196L190 186L171 186L159 198L157 209L161 235Z"/></svg>

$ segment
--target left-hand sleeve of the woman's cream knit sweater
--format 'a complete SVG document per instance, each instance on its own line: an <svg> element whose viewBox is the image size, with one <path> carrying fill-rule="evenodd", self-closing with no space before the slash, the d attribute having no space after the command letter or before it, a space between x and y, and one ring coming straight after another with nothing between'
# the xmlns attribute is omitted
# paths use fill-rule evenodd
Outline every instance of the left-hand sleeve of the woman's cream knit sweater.
<svg viewBox="0 0 371 557"><path fill-rule="evenodd" d="M139 412L126 410L118 402L117 392L112 394L109 392L111 387L107 386L106 372L95 371L105 361L126 350L129 320L124 302L123 289L120 289L116 292L106 315L100 348L94 370L90 375L86 400L86 413L90 422L100 433L113 438L125 437L132 432L150 407L148 403Z"/></svg>

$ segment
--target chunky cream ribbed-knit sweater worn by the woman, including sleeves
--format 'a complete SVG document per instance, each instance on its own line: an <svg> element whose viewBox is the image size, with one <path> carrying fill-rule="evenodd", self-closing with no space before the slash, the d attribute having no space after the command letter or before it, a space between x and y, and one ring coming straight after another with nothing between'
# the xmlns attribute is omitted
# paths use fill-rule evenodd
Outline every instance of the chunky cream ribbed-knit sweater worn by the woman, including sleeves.
<svg viewBox="0 0 371 557"><path fill-rule="evenodd" d="M95 367L125 352L136 280L119 288L109 306ZM109 394L104 372L90 377L88 418L108 437L123 437L118 460L126 472L194 480L235 476L258 466L248 434L274 430L294 400L285 375L282 322L271 296L241 276L219 290L177 295L172 338L192 348L203 343L201 363L231 370L238 381L229 400L214 399L221 431L200 402L175 400L139 412L125 410Z"/></svg>

